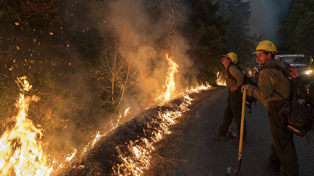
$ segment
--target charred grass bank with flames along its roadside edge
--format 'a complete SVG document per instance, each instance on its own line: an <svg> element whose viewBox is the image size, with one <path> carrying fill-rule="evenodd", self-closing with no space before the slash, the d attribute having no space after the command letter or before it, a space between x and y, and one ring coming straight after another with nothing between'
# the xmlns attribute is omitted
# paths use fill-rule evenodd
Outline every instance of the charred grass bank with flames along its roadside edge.
<svg viewBox="0 0 314 176"><path fill-rule="evenodd" d="M94 148L75 158L59 175L141 175L150 165L153 144L171 134L169 127L189 110L189 94L208 88L211 86L197 86L167 106L143 111L100 138Z"/></svg>

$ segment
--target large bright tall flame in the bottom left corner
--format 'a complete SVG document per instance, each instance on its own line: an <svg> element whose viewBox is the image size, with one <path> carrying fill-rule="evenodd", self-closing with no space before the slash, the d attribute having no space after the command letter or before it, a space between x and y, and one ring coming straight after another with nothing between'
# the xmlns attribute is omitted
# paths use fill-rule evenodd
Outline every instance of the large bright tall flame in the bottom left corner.
<svg viewBox="0 0 314 176"><path fill-rule="evenodd" d="M0 175L41 175L46 176L52 171L52 166L46 166L43 155L43 144L39 140L42 132L27 118L30 101L38 101L39 97L24 96L32 85L26 76L17 79L22 93L15 104L18 114L14 116L14 126L3 133L0 138ZM23 80L23 82L22 82Z"/></svg>

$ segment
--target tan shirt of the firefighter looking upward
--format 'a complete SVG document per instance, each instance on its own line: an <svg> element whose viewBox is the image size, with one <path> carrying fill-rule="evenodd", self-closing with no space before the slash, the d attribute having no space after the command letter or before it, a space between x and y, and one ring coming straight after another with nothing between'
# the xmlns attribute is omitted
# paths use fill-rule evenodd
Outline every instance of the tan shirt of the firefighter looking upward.
<svg viewBox="0 0 314 176"><path fill-rule="evenodd" d="M244 75L243 75L242 71L240 71L238 69L238 67L236 67L236 65L231 65L229 67L229 72L236 79L236 81L231 79L230 76L228 77L228 70L226 69L225 78L226 78L226 86L227 86L228 90L230 90L230 88L233 85L240 86L243 84Z"/></svg>

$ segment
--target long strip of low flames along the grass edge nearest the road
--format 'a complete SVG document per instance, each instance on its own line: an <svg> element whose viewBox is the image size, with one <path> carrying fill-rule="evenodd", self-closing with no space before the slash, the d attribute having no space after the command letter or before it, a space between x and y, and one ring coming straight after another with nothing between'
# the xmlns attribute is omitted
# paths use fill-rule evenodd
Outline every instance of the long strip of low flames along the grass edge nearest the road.
<svg viewBox="0 0 314 176"><path fill-rule="evenodd" d="M159 123L159 127L155 127L152 137L142 138L134 142L129 141L127 145L127 150L130 155L123 154L121 148L116 147L119 157L122 160L121 164L116 164L112 167L113 173L115 175L133 175L140 176L143 173L143 169L149 167L149 159L151 158L150 153L154 150L153 143L160 141L165 134L171 133L169 127L176 123L177 119L182 116L183 112L189 111L187 108L192 104L192 98L189 97L190 93L196 93L201 90L210 89L211 86L206 83L206 85L196 85L191 87L182 93L184 97L183 103L174 110L168 110L164 112L158 112L158 119L161 121L156 121L153 119L152 123ZM150 124L147 123L147 126L150 128ZM122 175L123 174L123 175Z"/></svg>

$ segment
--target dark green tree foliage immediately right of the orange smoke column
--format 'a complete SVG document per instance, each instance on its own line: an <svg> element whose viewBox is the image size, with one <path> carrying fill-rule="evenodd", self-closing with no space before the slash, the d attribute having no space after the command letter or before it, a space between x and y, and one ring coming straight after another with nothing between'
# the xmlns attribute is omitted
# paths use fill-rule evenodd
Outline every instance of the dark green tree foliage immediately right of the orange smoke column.
<svg viewBox="0 0 314 176"><path fill-rule="evenodd" d="M223 43L217 26L222 22L215 12L219 4L212 1L187 1L192 7L191 17L185 26L184 34L190 40L191 49L188 52L198 67L198 79L209 81L217 73Z"/></svg>

